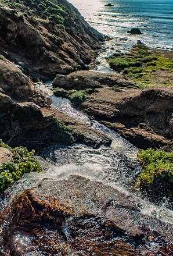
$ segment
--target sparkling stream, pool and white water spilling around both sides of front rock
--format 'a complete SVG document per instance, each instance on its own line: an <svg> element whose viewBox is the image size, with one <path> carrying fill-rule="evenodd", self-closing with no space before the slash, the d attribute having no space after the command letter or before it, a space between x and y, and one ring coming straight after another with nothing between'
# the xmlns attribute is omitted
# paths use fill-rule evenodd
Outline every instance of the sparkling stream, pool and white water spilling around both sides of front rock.
<svg viewBox="0 0 173 256"><path fill-rule="evenodd" d="M60 180L67 179L70 175L80 175L94 182L99 181L109 185L107 187L108 193L110 186L116 188L140 209L142 213L140 218L150 219L151 216L152 218L159 219L165 222L164 230L165 226L168 226L168 233L171 232L170 224L173 223L173 211L170 209L168 200L165 198L159 204L154 204L145 195L140 193L138 187L135 187L136 176L140 172L140 166L136 158L138 148L122 138L116 131L108 129L95 120L90 120L84 112L75 109L69 99L55 97L52 91L52 81L45 84L35 84L35 87L43 94L52 98L52 106L54 108L66 113L71 118L78 119L92 126L93 129L105 133L111 138L112 143L110 147L102 145L99 148L92 148L84 144L54 144L51 147L46 147L41 154L41 161L46 167L44 172L33 172L24 175L23 178L8 189L5 198L2 201L0 200L0 208L2 207L3 209L6 205L13 202L15 195L20 195L23 191L38 186L42 180ZM68 223L67 229L73 225L73 221L69 219ZM8 225L8 223L5 223L5 225ZM19 247L19 250L20 247L21 251L23 250L22 248L25 251L26 248L30 247L29 237L20 233L14 234L14 236L15 246ZM26 255L35 255L35 253Z"/></svg>

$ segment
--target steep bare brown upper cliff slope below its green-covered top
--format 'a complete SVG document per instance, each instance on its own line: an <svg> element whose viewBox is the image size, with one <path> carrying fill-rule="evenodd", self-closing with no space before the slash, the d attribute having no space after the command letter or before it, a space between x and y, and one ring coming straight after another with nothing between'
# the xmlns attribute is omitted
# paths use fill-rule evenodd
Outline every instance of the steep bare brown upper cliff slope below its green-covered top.
<svg viewBox="0 0 173 256"><path fill-rule="evenodd" d="M31 15L27 8L24 15L21 10L0 8L0 54L5 52L6 58L32 77L53 78L57 73L88 69L103 41L102 35L85 22L71 3L56 3L65 6L69 13L63 28Z"/></svg>

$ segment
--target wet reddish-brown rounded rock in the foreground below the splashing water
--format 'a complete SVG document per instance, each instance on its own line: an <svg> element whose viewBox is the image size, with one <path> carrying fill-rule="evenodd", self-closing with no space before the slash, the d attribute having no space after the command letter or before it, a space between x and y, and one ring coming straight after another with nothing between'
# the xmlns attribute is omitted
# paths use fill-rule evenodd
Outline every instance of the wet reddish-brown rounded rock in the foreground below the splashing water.
<svg viewBox="0 0 173 256"><path fill-rule="evenodd" d="M0 220L5 255L173 253L171 225L143 216L113 187L81 176L42 181L16 197Z"/></svg>

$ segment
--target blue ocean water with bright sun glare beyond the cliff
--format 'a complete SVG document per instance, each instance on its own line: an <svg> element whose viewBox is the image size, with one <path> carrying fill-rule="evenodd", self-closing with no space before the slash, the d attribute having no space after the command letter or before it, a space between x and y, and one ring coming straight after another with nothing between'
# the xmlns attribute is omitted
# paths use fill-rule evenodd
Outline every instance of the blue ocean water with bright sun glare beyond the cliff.
<svg viewBox="0 0 173 256"><path fill-rule="evenodd" d="M113 37L107 54L128 51L137 40L149 47L173 51L173 0L69 0L85 20ZM113 7L104 7L112 3ZM142 35L128 34L137 27Z"/></svg>

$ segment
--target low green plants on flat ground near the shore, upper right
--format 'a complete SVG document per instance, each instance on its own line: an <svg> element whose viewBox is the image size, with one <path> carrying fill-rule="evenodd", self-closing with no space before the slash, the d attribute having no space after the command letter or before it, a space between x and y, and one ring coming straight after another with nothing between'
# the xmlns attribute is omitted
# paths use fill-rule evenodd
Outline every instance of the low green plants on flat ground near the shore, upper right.
<svg viewBox="0 0 173 256"><path fill-rule="evenodd" d="M134 45L130 54L113 54L108 58L112 69L121 72L139 86L171 85L171 82L159 79L156 72L166 70L173 72L172 59L158 53L150 52L144 45ZM161 75L160 75L161 76Z"/></svg>

